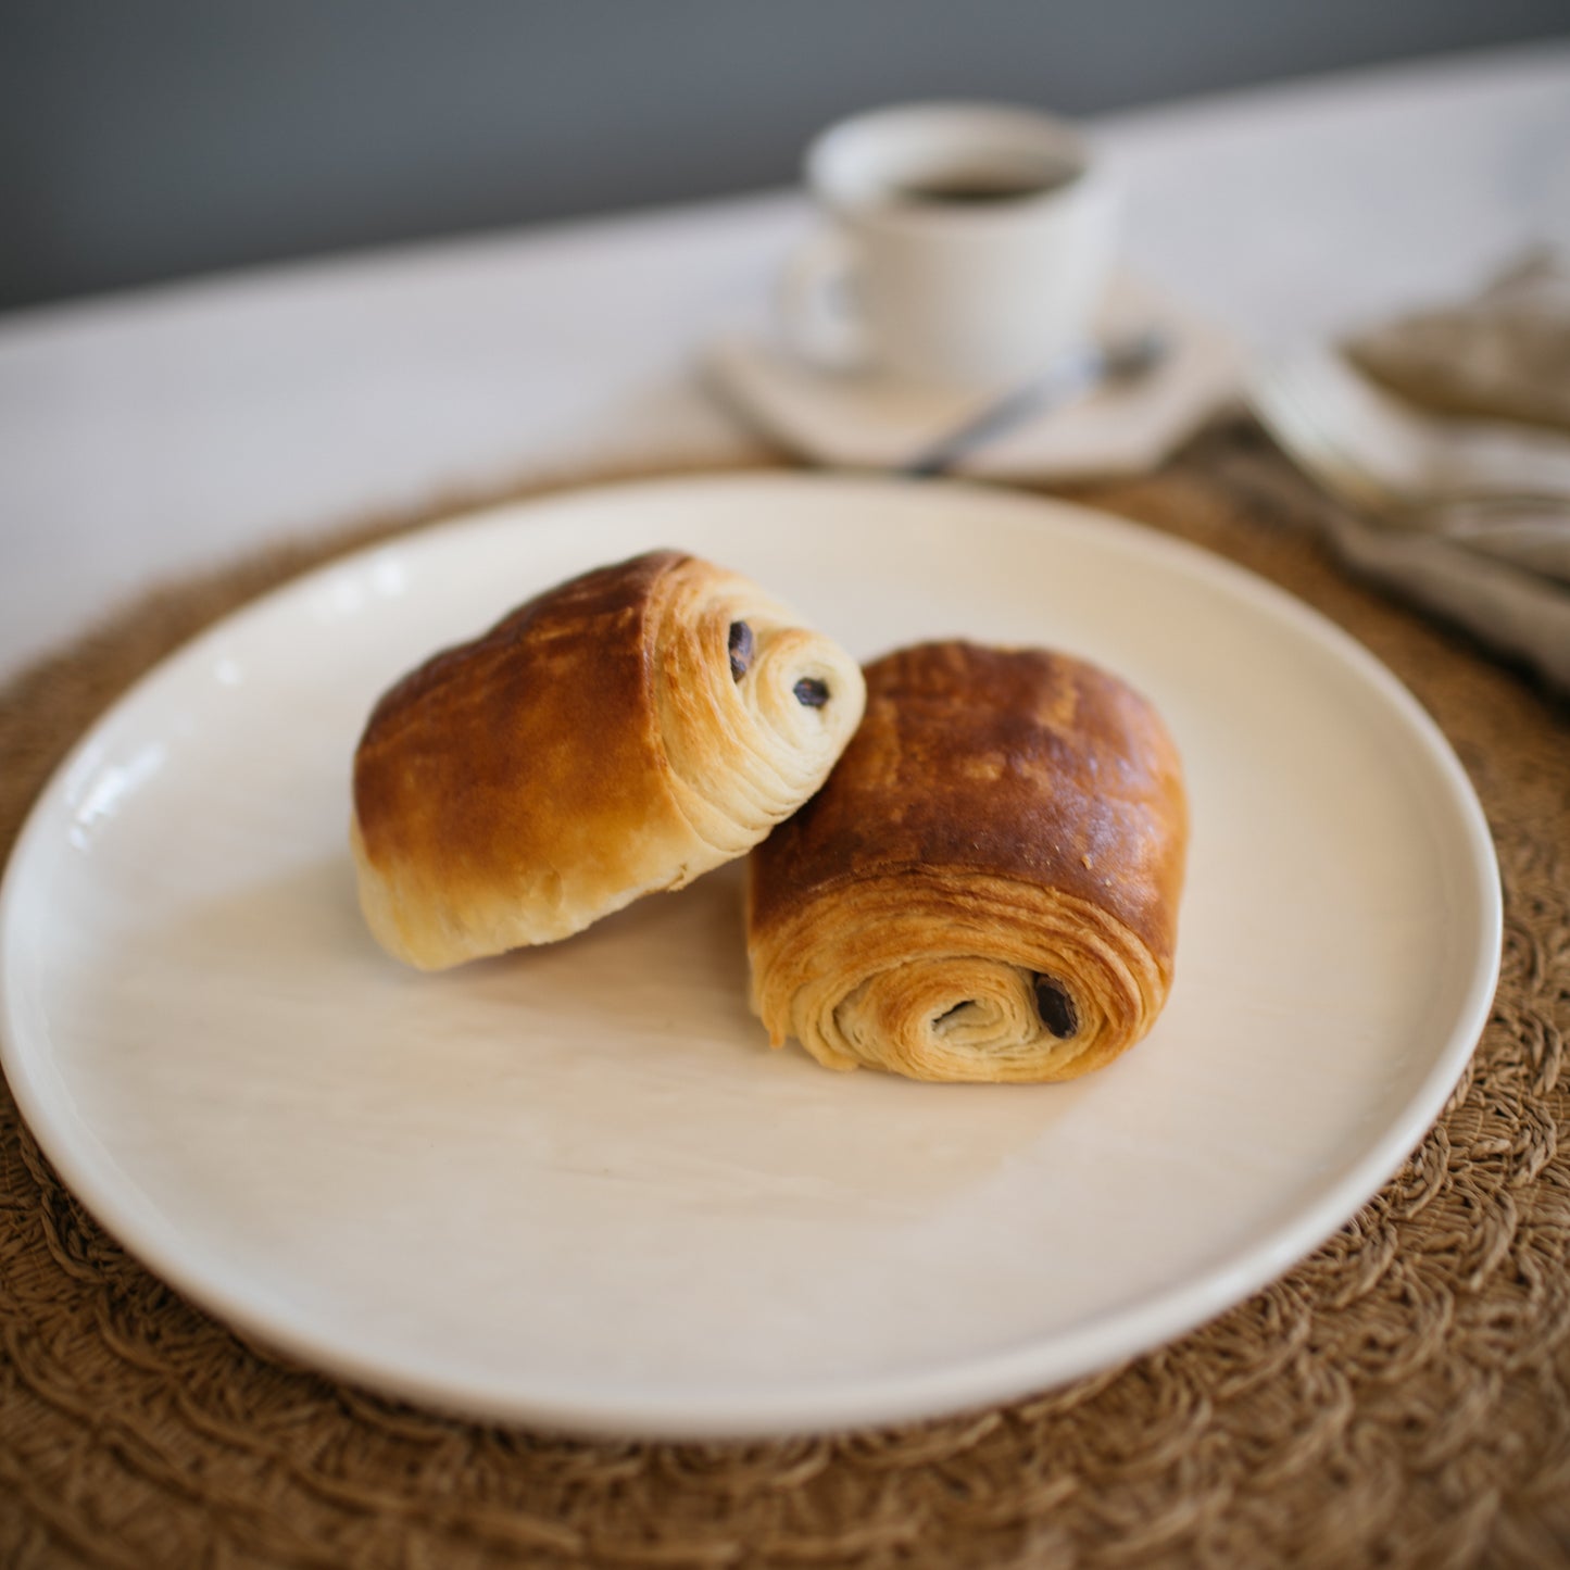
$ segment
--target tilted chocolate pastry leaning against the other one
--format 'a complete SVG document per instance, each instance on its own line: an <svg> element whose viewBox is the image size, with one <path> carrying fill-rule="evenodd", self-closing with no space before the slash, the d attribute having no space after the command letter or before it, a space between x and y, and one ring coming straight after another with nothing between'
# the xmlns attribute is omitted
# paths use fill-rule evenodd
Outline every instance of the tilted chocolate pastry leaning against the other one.
<svg viewBox="0 0 1570 1570"><path fill-rule="evenodd" d="M366 922L438 970L678 889L823 783L864 696L832 639L710 562L655 551L560 584L372 711Z"/></svg>

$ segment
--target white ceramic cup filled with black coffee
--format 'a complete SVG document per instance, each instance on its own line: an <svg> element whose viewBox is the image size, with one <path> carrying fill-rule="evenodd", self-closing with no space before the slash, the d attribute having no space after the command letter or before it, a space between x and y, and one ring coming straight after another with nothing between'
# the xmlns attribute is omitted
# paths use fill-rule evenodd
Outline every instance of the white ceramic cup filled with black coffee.
<svg viewBox="0 0 1570 1570"><path fill-rule="evenodd" d="M823 132L805 177L827 225L782 290L804 358L999 388L1090 334L1119 203L1066 121L1002 104L873 110Z"/></svg>

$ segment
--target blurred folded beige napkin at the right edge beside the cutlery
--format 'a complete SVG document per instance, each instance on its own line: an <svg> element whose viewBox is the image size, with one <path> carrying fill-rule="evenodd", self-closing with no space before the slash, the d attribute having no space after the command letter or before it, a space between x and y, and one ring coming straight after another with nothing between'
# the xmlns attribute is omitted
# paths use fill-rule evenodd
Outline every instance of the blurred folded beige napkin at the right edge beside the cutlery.
<svg viewBox="0 0 1570 1570"><path fill-rule="evenodd" d="M1369 328L1341 345L1386 391L1429 413L1515 421L1543 436L1565 433L1570 454L1570 261L1537 251L1477 298ZM1540 534L1554 554L1570 550L1570 496L1561 535L1545 507ZM1484 644L1532 667L1570 694L1570 584L1561 570L1534 570L1501 535L1466 545L1408 534L1372 518L1331 520L1331 545L1355 571L1465 626ZM1542 539L1539 539L1539 548Z"/></svg>

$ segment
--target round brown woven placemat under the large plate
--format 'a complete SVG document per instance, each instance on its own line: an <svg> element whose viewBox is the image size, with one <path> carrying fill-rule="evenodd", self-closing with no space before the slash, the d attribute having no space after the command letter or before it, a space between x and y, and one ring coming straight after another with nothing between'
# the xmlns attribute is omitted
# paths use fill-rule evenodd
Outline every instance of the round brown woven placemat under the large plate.
<svg viewBox="0 0 1570 1570"><path fill-rule="evenodd" d="M1082 499L1349 628L1437 717L1482 799L1507 901L1498 999L1438 1126L1375 1199L1232 1313L1066 1389L813 1440L584 1441L421 1411L239 1339L99 1229L5 1093L0 1561L1570 1564L1570 716L1344 578L1317 545L1325 502L1245 427ZM0 849L154 659L418 521L173 584L22 674L0 694Z"/></svg>

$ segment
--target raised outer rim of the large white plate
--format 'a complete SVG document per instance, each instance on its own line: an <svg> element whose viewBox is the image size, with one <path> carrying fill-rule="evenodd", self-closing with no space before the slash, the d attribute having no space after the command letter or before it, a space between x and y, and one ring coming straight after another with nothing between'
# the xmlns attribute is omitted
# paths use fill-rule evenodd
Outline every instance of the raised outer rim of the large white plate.
<svg viewBox="0 0 1570 1570"><path fill-rule="evenodd" d="M774 1383L758 1388L732 1385L717 1396L697 1396L667 1388L658 1380L636 1394L564 1394L545 1389L539 1378L526 1382L529 1391L510 1385L480 1385L427 1375L403 1366L389 1366L375 1355L364 1356L331 1336L312 1334L308 1324L279 1325L265 1306L236 1294L223 1280L203 1273L199 1259L168 1254L149 1237L146 1220L138 1220L135 1203L122 1203L105 1188L99 1173L75 1149L57 1116L36 1072L49 1053L28 1052L19 1042L17 1008L11 997L13 931L20 925L25 865L36 840L49 832L47 818L58 804L72 771L89 747L113 727L126 722L152 689L171 678L179 667L199 658L201 650L239 623L278 614L290 598L305 598L334 575L363 571L374 559L391 551L440 551L452 548L463 532L480 537L490 529L526 528L543 512L560 507L634 502L641 495L685 490L794 490L876 493L903 506L912 496L947 496L958 506L972 504L1014 512L1038 520L1052 515L1072 529L1094 529L1099 540L1116 540L1118 548L1137 554L1156 553L1185 575L1198 576L1229 595L1262 606L1272 620L1284 620L1294 633L1369 688L1382 703L1394 708L1410 739L1419 744L1424 763L1444 785L1444 799L1463 829L1465 867L1481 900L1476 907L1479 951L1462 1003L1444 1042L1437 1047L1427 1071L1407 1099L1400 1115L1374 1138L1363 1154L1322 1190L1294 1203L1294 1214L1232 1256L1184 1276L1174 1287L1148 1292L1126 1302L1091 1325L1074 1325L1044 1339L958 1356L928 1369L895 1369L859 1375L854 1382ZM462 546L457 546L462 550ZM652 1440L761 1440L785 1435L823 1433L904 1421L923 1421L999 1400L1017 1399L1033 1391L1060 1388L1074 1378L1104 1371L1174 1342L1198 1327L1242 1303L1292 1265L1311 1254L1372 1199L1421 1145L1443 1113L1466 1063L1470 1061L1498 986L1502 955L1502 885L1498 856L1482 804L1454 747L1438 722L1416 696L1378 659L1374 652L1325 612L1262 573L1218 551L1167 534L1151 524L1055 496L1020 493L977 479L912 482L887 476L823 474L793 471L722 471L706 474L620 479L606 484L570 487L537 496L509 499L466 509L430 520L414 529L389 535L333 556L297 573L264 593L245 601L217 622L155 661L86 730L75 738L52 769L30 805L0 876L0 1071L16 1097L22 1119L39 1149L60 1173L72 1196L104 1226L115 1242L149 1273L174 1286L201 1311L228 1327L239 1328L259 1345L295 1358L330 1377L349 1378L366 1388L408 1399L460 1418L502 1421L546 1427L570 1433L641 1437ZM35 1061L38 1060L38 1061Z"/></svg>

